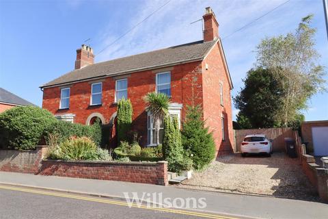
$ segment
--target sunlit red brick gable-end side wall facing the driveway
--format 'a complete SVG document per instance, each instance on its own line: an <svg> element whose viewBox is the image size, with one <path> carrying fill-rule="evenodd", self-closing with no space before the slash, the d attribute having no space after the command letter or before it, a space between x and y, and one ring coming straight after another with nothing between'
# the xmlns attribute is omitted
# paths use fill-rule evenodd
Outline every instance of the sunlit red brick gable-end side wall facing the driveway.
<svg viewBox="0 0 328 219"><path fill-rule="evenodd" d="M206 70L208 64L208 70ZM219 45L210 51L203 62L203 99L204 119L206 125L213 131L217 152L232 151L234 133L232 129L232 105L228 77L223 66ZM220 83L223 85L223 105L220 99ZM222 140L221 117L225 121L226 140Z"/></svg>

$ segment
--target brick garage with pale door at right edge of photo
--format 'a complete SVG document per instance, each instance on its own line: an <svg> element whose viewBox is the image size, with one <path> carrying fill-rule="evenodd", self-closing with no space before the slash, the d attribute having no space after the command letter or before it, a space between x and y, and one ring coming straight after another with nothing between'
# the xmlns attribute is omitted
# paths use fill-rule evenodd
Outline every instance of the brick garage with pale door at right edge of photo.
<svg viewBox="0 0 328 219"><path fill-rule="evenodd" d="M303 142L308 144L308 149L313 149L314 156L328 156L328 120L305 121L301 124L301 133Z"/></svg>

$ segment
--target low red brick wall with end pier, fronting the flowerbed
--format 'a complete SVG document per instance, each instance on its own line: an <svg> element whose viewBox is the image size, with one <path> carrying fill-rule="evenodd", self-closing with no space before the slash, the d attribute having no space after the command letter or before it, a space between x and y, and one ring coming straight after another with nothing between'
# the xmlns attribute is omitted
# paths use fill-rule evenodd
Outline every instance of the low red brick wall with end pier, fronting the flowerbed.
<svg viewBox="0 0 328 219"><path fill-rule="evenodd" d="M40 175L167 185L167 162L42 161Z"/></svg>

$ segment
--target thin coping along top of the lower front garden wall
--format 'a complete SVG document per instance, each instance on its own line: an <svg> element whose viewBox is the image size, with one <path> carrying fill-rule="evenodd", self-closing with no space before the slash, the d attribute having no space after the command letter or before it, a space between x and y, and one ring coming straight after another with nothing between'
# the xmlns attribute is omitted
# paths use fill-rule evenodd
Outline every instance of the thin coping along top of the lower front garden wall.
<svg viewBox="0 0 328 219"><path fill-rule="evenodd" d="M118 165L157 165L167 164L165 161L160 162L116 162L116 161L101 161L101 160L67 160L67 159L43 159L42 162L58 162L58 163L73 163L73 164L118 164Z"/></svg>

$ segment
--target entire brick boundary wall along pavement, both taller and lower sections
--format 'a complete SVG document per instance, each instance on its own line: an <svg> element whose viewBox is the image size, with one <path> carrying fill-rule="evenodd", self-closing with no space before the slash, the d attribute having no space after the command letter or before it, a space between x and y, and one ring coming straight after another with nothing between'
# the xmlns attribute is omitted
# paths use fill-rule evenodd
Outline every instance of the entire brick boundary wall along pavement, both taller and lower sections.
<svg viewBox="0 0 328 219"><path fill-rule="evenodd" d="M167 162L105 162L43 159L46 146L36 150L0 150L0 171L35 175L105 179L168 185Z"/></svg>

